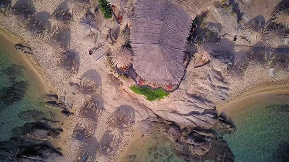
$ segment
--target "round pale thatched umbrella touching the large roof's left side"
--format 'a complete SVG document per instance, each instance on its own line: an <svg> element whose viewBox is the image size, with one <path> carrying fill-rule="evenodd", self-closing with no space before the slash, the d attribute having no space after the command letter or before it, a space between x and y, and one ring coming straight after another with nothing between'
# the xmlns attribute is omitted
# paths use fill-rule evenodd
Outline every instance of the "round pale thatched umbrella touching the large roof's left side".
<svg viewBox="0 0 289 162"><path fill-rule="evenodd" d="M114 47L109 59L112 61L113 67L118 69L129 67L133 63L132 52L127 47Z"/></svg>

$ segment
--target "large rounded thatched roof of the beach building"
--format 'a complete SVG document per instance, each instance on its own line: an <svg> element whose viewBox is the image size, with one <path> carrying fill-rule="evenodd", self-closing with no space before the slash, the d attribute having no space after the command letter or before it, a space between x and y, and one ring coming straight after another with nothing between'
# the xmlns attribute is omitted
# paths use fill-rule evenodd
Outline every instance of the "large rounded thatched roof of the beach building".
<svg viewBox="0 0 289 162"><path fill-rule="evenodd" d="M138 0L135 5L130 35L135 55L133 67L149 81L178 83L184 75L184 51L193 20L175 1L178 0Z"/></svg>

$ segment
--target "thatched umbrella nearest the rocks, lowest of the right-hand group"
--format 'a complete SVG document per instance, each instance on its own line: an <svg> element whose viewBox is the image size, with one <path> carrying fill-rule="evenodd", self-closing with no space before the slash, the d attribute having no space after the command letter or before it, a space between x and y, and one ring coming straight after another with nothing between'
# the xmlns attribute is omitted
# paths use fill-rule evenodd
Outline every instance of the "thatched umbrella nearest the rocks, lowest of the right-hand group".
<svg viewBox="0 0 289 162"><path fill-rule="evenodd" d="M243 70L241 66L232 65L228 66L227 71L224 72L225 80L227 83L236 86L243 80Z"/></svg>

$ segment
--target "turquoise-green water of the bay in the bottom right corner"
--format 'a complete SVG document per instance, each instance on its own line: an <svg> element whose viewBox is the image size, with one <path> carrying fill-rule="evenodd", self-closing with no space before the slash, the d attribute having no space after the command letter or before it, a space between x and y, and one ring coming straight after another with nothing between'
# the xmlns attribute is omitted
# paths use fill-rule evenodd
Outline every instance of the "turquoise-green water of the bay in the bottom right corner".
<svg viewBox="0 0 289 162"><path fill-rule="evenodd" d="M237 130L224 136L235 162L288 162L289 105L259 104L233 116Z"/></svg>

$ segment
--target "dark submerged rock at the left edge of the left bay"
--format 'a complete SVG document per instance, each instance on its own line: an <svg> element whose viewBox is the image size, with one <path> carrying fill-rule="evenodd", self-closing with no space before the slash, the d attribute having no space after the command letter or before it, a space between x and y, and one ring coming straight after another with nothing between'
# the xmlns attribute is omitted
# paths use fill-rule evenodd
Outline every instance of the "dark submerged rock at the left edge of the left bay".
<svg viewBox="0 0 289 162"><path fill-rule="evenodd" d="M21 101L28 89L27 81L14 82L10 87L3 87L0 90L0 107L5 108L14 102Z"/></svg>

